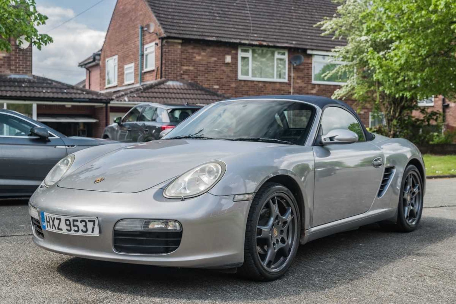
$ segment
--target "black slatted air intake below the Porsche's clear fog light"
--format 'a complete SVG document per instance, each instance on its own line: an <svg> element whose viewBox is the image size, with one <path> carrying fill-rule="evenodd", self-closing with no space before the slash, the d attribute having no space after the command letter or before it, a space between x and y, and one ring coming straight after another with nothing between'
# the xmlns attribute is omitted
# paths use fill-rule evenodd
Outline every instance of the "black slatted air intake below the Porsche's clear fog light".
<svg viewBox="0 0 456 304"><path fill-rule="evenodd" d="M179 247L182 231L114 230L114 249L123 253L163 254Z"/></svg>

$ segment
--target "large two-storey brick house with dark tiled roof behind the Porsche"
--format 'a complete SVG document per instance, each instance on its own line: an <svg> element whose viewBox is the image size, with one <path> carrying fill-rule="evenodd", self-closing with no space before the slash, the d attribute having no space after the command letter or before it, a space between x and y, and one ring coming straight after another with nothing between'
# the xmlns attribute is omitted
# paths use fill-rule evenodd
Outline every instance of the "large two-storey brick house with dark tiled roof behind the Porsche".
<svg viewBox="0 0 456 304"><path fill-rule="evenodd" d="M335 10L331 0L118 0L102 50L80 66L91 77L86 88L105 93L168 79L230 97L330 97L344 77L321 74L343 64L330 62L332 48L343 41L321 36L314 25ZM295 55L303 62L293 67ZM421 105L445 109L438 98ZM456 128L455 104L445 112L447 128ZM368 108L360 116L367 126L381 123Z"/></svg>

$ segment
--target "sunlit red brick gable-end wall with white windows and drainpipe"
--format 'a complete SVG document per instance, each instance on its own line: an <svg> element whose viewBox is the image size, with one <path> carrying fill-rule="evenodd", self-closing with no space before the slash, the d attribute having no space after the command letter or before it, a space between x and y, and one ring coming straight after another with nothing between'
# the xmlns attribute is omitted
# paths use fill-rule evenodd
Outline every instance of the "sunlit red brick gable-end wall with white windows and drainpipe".
<svg viewBox="0 0 456 304"><path fill-rule="evenodd" d="M144 0L117 1L101 52L99 79L101 90L105 88L106 59L115 55L118 56L117 86L124 84L124 65L132 62L135 63L135 83L139 82L139 26L146 26L149 23L155 24L154 31L161 36L161 28ZM160 78L160 41L155 33L143 31L143 46L154 41L158 43L155 48L155 70L143 72L143 82Z"/></svg>

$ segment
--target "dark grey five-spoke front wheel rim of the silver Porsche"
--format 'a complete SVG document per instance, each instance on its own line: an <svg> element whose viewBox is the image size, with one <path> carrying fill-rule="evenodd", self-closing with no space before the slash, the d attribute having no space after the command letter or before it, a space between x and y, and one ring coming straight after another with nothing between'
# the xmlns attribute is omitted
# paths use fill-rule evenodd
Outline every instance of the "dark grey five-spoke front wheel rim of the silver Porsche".
<svg viewBox="0 0 456 304"><path fill-rule="evenodd" d="M294 205L286 194L275 193L260 211L256 247L262 266L269 272L279 272L289 262L297 244L297 218Z"/></svg>

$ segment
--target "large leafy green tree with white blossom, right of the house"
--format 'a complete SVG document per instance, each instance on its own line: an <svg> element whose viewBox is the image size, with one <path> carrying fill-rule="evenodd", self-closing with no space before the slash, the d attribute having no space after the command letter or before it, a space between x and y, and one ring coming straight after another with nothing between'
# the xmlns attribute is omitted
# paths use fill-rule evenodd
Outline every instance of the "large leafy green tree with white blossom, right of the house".
<svg viewBox="0 0 456 304"><path fill-rule="evenodd" d="M371 103L384 113L384 133L393 137L419 123L409 119L418 100L455 95L456 1L336 2L337 14L316 25L347 42L334 52L349 63L334 72L355 71L335 98Z"/></svg>

